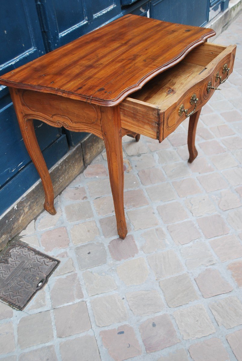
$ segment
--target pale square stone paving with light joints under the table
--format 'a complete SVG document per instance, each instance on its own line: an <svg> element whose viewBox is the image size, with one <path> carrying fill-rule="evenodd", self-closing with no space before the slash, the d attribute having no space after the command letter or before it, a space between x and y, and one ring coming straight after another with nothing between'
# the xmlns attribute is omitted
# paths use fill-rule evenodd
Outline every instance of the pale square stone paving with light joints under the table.
<svg viewBox="0 0 242 361"><path fill-rule="evenodd" d="M24 311L0 303L1 361L242 361L242 16L234 72L164 140L125 137L128 236L116 235L105 152L20 239L61 260Z"/></svg>

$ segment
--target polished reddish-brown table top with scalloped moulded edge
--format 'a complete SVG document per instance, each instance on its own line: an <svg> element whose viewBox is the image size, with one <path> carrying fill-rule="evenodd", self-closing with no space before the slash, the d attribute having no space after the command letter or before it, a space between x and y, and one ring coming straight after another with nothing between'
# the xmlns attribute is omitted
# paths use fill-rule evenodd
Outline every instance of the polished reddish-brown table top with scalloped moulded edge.
<svg viewBox="0 0 242 361"><path fill-rule="evenodd" d="M0 84L114 106L215 31L128 14L0 77Z"/></svg>

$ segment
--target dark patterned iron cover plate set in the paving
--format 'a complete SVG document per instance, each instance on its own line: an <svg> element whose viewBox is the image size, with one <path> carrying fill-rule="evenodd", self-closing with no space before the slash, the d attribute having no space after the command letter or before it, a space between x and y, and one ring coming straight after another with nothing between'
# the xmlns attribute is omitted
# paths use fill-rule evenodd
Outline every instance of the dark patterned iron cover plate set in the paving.
<svg viewBox="0 0 242 361"><path fill-rule="evenodd" d="M0 253L0 299L22 310L60 261L21 242Z"/></svg>

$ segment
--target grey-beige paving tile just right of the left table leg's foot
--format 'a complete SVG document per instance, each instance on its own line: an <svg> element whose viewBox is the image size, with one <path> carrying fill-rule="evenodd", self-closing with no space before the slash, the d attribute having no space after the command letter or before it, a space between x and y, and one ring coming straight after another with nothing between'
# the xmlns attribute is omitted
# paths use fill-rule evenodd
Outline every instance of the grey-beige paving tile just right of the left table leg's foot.
<svg viewBox="0 0 242 361"><path fill-rule="evenodd" d="M93 211L88 201L72 203L65 206L65 214L68 222L77 222L93 218Z"/></svg>

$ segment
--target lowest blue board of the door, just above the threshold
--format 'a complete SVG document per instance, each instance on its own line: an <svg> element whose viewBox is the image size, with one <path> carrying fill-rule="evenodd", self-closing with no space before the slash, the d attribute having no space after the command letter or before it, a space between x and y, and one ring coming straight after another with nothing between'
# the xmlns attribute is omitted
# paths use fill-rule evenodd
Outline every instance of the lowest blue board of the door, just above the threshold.
<svg viewBox="0 0 242 361"><path fill-rule="evenodd" d="M67 140L64 135L43 151L43 156L50 169L68 152ZM32 162L29 162L15 177L0 187L0 214L5 212L18 198L20 198L35 182L39 175Z"/></svg>

